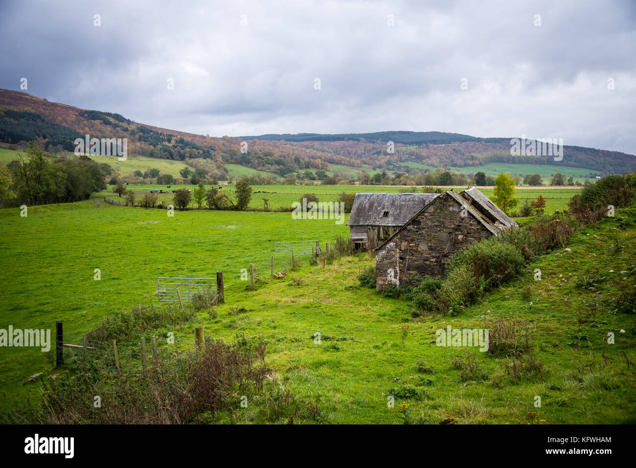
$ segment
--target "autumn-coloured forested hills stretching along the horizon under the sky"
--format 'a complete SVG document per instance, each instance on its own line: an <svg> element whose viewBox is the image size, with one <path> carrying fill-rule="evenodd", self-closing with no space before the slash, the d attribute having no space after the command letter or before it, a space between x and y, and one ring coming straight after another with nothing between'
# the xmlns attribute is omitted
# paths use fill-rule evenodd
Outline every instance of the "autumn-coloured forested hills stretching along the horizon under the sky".
<svg viewBox="0 0 636 468"><path fill-rule="evenodd" d="M279 176L331 165L410 174L438 167L479 168L490 163L562 165L603 174L636 169L636 156L618 151L565 146L563 159L511 156L509 138L479 138L444 132L368 134L280 134L210 137L134 122L120 114L79 109L28 93L0 90L0 141L36 140L46 148L73 151L74 140L127 138L128 154L191 163L227 174L225 164ZM394 142L394 152L387 143ZM247 142L243 148L242 142ZM471 169L478 170L478 169Z"/></svg>

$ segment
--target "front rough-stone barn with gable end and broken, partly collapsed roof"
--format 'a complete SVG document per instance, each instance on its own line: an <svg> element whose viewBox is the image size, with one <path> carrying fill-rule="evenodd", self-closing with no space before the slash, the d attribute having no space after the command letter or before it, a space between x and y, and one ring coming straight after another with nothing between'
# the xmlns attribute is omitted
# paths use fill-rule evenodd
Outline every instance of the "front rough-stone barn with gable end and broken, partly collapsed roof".
<svg viewBox="0 0 636 468"><path fill-rule="evenodd" d="M456 251L516 226L478 189L446 191L375 249L376 289L412 284L411 275L440 275Z"/></svg>

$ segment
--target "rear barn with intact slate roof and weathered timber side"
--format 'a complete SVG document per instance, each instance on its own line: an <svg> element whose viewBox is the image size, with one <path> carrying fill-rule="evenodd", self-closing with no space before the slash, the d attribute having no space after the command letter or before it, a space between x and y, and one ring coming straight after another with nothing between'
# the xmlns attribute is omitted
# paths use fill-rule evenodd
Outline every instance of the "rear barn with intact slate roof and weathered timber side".
<svg viewBox="0 0 636 468"><path fill-rule="evenodd" d="M439 193L356 193L347 226L357 249L374 248L394 235Z"/></svg>

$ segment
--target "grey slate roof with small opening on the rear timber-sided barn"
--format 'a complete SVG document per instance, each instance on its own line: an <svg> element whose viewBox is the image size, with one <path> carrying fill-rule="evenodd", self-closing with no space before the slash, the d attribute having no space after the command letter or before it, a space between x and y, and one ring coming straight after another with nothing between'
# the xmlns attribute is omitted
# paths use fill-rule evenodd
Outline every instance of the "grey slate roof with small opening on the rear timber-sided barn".
<svg viewBox="0 0 636 468"><path fill-rule="evenodd" d="M347 226L404 226L439 193L359 192ZM383 216L388 212L388 216Z"/></svg>

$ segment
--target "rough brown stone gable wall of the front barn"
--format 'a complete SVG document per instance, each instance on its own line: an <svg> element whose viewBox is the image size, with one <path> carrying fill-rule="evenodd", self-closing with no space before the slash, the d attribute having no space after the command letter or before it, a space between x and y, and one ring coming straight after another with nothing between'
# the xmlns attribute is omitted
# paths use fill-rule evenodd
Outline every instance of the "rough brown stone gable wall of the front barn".
<svg viewBox="0 0 636 468"><path fill-rule="evenodd" d="M376 252L376 288L411 284L411 275L441 275L456 251L490 235L457 200L441 195Z"/></svg>

